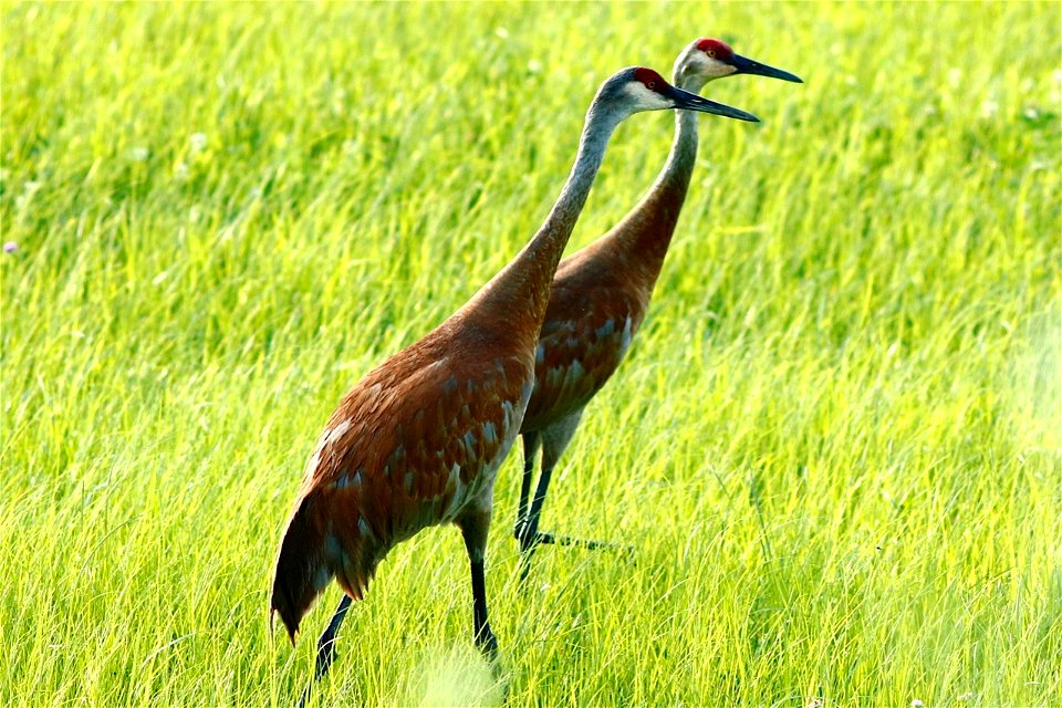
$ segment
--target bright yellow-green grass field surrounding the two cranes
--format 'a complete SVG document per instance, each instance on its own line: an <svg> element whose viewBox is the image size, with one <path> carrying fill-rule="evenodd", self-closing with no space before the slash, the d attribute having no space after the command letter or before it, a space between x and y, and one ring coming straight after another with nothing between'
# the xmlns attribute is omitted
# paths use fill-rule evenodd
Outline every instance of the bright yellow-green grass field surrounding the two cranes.
<svg viewBox="0 0 1062 708"><path fill-rule="evenodd" d="M706 95L650 315L521 592L509 705L1062 705L1062 10L2 6L0 705L285 706L267 597L343 392L501 268L621 66ZM663 165L621 126L570 250ZM459 533L394 551L320 705L494 702Z"/></svg>

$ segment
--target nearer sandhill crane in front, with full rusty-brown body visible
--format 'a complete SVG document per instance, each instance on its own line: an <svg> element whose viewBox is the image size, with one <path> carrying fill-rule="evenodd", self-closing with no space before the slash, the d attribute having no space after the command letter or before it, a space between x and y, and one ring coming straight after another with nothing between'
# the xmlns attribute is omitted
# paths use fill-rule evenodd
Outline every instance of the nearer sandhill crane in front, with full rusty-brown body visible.
<svg viewBox="0 0 1062 708"><path fill-rule="evenodd" d="M483 577L494 473L531 397L550 282L613 131L634 113L663 108L757 121L650 69L610 77L587 111L571 175L530 242L454 315L355 384L332 414L283 533L270 600L271 621L279 614L294 643L302 617L337 580L345 595L319 639L315 678L334 658L351 600L362 597L387 552L442 523L461 530L472 637L496 656Z"/></svg>

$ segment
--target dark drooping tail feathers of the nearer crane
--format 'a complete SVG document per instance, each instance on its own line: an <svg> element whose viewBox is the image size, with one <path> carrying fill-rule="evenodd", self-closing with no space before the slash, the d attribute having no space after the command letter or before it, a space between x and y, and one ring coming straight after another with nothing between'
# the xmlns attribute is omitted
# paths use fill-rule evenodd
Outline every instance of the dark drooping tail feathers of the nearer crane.
<svg viewBox="0 0 1062 708"><path fill-rule="evenodd" d="M288 637L295 643L299 623L325 586L333 571L327 558L327 528L314 513L312 497L299 500L277 554L273 593L270 598L270 627L273 613L280 614Z"/></svg>

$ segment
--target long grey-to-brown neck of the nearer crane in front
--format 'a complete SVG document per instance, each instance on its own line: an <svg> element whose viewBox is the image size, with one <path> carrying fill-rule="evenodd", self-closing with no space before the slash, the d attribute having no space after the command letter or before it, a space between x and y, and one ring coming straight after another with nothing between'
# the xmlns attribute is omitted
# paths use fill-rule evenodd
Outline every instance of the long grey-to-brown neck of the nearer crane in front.
<svg viewBox="0 0 1062 708"><path fill-rule="evenodd" d="M523 250L461 309L466 317L481 324L506 323L513 334L520 330L520 335L538 339L556 264L622 119L597 102L591 105L575 164L549 216Z"/></svg>

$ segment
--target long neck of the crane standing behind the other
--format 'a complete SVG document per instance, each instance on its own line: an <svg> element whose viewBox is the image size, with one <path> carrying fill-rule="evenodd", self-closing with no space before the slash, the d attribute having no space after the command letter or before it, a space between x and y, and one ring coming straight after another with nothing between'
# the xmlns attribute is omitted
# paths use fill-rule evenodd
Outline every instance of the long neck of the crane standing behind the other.
<svg viewBox="0 0 1062 708"><path fill-rule="evenodd" d="M704 81L678 74L675 83L687 91L699 91ZM624 260L644 273L649 289L664 264L675 233L675 225L686 201L694 164L697 162L697 113L675 112L675 139L671 152L656 181L642 200L612 231L613 248Z"/></svg>

